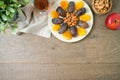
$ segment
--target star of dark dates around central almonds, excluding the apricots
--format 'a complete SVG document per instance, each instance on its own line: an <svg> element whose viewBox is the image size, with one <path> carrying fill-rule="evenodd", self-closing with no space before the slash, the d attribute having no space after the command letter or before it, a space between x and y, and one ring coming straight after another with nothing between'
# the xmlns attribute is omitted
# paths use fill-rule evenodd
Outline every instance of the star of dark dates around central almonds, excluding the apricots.
<svg viewBox="0 0 120 80"><path fill-rule="evenodd" d="M53 18L52 23L60 25L58 30L59 34L63 34L65 31L69 31L73 37L77 36L77 26L87 28L88 24L85 21L81 21L79 17L86 13L86 8L82 7L79 10L75 10L75 3L70 1L67 9L63 9L61 6L57 7L56 12L59 17Z"/></svg>

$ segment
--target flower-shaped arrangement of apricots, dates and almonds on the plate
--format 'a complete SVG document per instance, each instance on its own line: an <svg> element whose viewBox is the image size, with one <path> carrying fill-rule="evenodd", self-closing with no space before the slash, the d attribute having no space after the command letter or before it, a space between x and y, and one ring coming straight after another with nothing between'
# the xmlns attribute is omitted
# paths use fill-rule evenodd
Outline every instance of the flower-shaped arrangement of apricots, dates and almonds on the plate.
<svg viewBox="0 0 120 80"><path fill-rule="evenodd" d="M82 1L68 3L66 0L62 0L56 11L51 12L54 24L52 30L58 31L66 40L76 36L84 36L85 29L89 27L86 21L90 20L90 16L85 14L86 8L83 5Z"/></svg>

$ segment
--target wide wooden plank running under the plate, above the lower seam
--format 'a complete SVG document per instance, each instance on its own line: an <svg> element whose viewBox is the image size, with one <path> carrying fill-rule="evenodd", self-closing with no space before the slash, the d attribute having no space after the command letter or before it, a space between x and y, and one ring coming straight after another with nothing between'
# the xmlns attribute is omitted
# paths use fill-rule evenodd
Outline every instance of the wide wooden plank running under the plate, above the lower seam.
<svg viewBox="0 0 120 80"><path fill-rule="evenodd" d="M91 3L89 0L85 0ZM113 0L118 11L120 0ZM107 15L95 15L91 33L77 43L24 34L0 35L0 63L120 63L120 31L106 29Z"/></svg>

